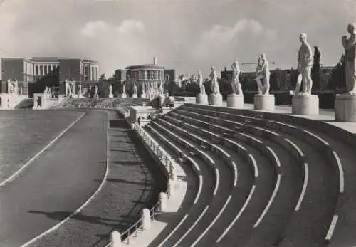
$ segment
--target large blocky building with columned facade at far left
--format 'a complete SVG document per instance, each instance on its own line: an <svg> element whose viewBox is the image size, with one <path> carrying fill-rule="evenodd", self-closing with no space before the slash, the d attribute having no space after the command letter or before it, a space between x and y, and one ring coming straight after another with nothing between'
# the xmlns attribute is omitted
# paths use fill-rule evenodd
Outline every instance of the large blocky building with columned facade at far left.
<svg viewBox="0 0 356 247"><path fill-rule="evenodd" d="M46 86L65 94L65 80L95 83L99 78L99 62L85 58L1 58L2 80L28 84L28 93L42 93ZM32 89L31 89L32 88ZM1 92L5 91L1 88Z"/></svg>

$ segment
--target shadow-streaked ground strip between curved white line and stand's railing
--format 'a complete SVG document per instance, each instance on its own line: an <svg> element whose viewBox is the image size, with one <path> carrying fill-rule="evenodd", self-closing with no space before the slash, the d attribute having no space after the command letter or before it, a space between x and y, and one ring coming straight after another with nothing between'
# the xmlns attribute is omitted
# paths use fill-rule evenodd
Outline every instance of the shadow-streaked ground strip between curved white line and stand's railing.
<svg viewBox="0 0 356 247"><path fill-rule="evenodd" d="M97 145L106 149L106 143ZM98 196L31 246L104 246L112 230L125 231L142 208L155 204L166 186L162 171L125 120L116 120L115 112L110 113L109 152L108 178Z"/></svg>

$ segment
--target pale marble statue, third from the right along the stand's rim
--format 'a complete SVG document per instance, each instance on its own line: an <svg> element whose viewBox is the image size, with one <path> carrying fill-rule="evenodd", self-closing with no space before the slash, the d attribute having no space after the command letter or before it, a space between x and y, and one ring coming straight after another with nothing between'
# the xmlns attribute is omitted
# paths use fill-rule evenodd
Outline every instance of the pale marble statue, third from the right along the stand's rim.
<svg viewBox="0 0 356 247"><path fill-rule="evenodd" d="M261 79L263 79L263 85L261 83ZM270 79L270 70L268 61L266 58L266 54L262 53L258 56L257 70L256 70L256 81L258 86L258 94L269 94L269 79Z"/></svg>

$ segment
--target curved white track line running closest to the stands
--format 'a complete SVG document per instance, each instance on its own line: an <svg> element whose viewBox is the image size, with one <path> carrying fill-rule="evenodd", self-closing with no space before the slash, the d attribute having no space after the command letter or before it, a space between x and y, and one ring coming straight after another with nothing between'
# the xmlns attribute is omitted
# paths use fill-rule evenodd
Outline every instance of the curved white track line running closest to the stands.
<svg viewBox="0 0 356 247"><path fill-rule="evenodd" d="M108 177L108 172L109 172L109 112L106 112L106 113L107 113L107 118L106 118L106 122L107 122L107 129L106 129L106 171L105 171L105 175L104 175L103 181L101 182L99 188L95 191L95 193L92 196L90 196L90 198L87 201L85 201L85 203L82 206L80 206L79 209L75 210L66 219L63 219L63 221L59 222L55 226L52 226L47 231L43 231L43 233L41 233L40 235L36 236L35 238L32 238L30 241L27 241L26 243L23 243L23 245L21 245L20 247L29 246L31 243L37 241L39 238L42 238L43 236L46 236L48 233L51 233L52 231L56 230L56 228L58 228L59 226L64 224L66 221L68 221L68 219L70 219L75 214L78 214L85 206L87 206L90 203L90 201L92 201L94 199L94 197L98 194L98 192L102 189L102 187L105 184L105 181L106 181L106 179Z"/></svg>

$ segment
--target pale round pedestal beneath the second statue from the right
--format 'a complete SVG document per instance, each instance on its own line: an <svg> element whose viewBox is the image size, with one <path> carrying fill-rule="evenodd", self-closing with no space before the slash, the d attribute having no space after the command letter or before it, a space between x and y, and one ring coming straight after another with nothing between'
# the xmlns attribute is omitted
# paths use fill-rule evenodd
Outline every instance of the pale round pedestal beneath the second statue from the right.
<svg viewBox="0 0 356 247"><path fill-rule="evenodd" d="M293 95L292 114L296 114L296 115L319 114L318 95Z"/></svg>

